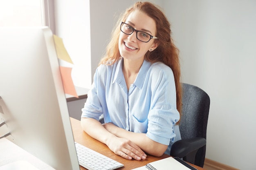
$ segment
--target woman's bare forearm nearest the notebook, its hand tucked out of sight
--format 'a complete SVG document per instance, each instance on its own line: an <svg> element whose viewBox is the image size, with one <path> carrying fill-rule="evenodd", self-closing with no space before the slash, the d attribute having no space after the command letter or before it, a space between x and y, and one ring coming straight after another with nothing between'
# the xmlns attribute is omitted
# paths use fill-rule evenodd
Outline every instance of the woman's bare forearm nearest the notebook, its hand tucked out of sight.
<svg viewBox="0 0 256 170"><path fill-rule="evenodd" d="M161 157L166 149L167 145L160 144L152 139L148 138L145 133L135 133L127 131L123 128L119 128L112 123L107 123L103 125L110 133L114 134L117 137L130 139L137 146L139 146L146 153Z"/></svg>

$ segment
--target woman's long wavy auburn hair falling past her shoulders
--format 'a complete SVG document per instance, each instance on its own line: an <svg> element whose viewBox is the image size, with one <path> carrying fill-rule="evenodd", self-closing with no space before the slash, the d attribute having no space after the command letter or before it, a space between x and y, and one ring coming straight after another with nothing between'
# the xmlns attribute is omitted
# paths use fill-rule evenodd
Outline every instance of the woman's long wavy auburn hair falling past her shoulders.
<svg viewBox="0 0 256 170"><path fill-rule="evenodd" d="M182 85L180 82L180 61L179 61L179 49L174 45L171 38L170 22L166 18L165 14L160 8L150 2L136 2L132 7L128 8L120 17L115 29L112 31L112 37L108 46L106 47L106 54L101 59L99 64L112 65L121 57L119 53L118 40L120 35L120 24L125 22L128 15L133 11L138 10L146 13L150 18L155 20L157 28L157 48L152 52L145 54L145 60L149 62L163 62L169 66L174 74L175 86L176 86L176 102L177 110L182 113ZM177 124L180 121L177 122Z"/></svg>

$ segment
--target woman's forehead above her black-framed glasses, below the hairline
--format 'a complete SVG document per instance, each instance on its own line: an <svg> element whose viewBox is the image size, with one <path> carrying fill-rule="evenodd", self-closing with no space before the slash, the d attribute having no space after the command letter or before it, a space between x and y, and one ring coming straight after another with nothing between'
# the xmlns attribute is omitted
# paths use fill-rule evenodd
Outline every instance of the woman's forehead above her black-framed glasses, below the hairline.
<svg viewBox="0 0 256 170"><path fill-rule="evenodd" d="M141 11L133 11L128 15L128 18L125 21L127 24L130 24L137 30L148 30L152 34L156 33L156 24L153 18L150 18L146 13Z"/></svg>

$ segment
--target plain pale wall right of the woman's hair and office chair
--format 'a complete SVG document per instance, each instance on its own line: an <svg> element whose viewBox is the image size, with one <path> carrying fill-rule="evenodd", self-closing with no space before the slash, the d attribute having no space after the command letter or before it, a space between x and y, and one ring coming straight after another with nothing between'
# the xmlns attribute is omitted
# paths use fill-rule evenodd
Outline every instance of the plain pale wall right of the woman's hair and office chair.
<svg viewBox="0 0 256 170"><path fill-rule="evenodd" d="M206 157L255 170L256 1L165 2L183 82L211 98Z"/></svg>

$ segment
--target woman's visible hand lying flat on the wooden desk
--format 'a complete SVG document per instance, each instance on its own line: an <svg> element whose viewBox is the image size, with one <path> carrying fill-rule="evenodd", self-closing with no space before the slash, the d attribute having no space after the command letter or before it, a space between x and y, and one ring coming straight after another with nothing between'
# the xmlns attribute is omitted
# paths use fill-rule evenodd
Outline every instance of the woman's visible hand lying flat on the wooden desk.
<svg viewBox="0 0 256 170"><path fill-rule="evenodd" d="M145 160L147 157L137 145L125 138L114 136L108 141L107 146L115 154L120 155L125 159L131 160L133 158L140 161L141 159Z"/></svg>

